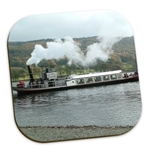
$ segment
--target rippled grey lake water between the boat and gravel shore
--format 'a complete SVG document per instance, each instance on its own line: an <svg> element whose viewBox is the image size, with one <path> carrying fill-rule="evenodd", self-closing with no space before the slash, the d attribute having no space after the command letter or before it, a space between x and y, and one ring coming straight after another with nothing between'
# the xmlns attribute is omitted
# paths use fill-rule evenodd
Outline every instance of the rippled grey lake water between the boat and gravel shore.
<svg viewBox="0 0 150 150"><path fill-rule="evenodd" d="M14 97L18 126L134 126L141 115L139 82Z"/></svg>

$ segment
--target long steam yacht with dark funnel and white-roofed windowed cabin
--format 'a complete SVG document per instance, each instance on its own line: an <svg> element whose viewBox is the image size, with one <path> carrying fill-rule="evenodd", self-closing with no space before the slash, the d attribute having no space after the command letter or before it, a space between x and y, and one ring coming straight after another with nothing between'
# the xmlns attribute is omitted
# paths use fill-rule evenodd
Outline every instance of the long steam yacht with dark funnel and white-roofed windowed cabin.
<svg viewBox="0 0 150 150"><path fill-rule="evenodd" d="M27 67L30 76L29 83L25 85L24 81L20 81L16 87L12 87L14 91L18 92L18 95L120 84L139 80L137 72L128 75L127 73L124 74L121 70L84 75L70 75L67 78L58 78L56 71L49 72L46 70L40 79L35 80L30 66Z"/></svg>

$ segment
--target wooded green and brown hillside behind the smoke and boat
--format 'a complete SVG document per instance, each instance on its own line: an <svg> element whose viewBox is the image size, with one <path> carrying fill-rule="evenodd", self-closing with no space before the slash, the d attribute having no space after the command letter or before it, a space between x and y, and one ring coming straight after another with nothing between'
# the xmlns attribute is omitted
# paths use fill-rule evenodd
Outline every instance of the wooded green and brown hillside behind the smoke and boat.
<svg viewBox="0 0 150 150"><path fill-rule="evenodd" d="M96 36L74 38L73 40L79 44L79 47L84 52L84 54L87 52L87 46L99 42ZM46 48L46 43L50 41L53 41L53 39L41 39L27 42L8 42L9 62L13 80L26 78L28 76L26 61L30 58L34 46L36 44L41 44L44 48ZM96 64L87 66L86 68L74 63L69 66L67 64L68 58L64 56L63 58L57 60L42 60L38 64L38 67L32 65L32 70L36 76L39 76L39 73L46 67L55 67L59 73L59 76L65 76L71 73L83 74L88 72L117 69L121 69L123 71L137 70L133 36L122 38L119 42L112 46L112 49L113 52L110 54L110 59L108 59L106 62L97 60Z"/></svg>

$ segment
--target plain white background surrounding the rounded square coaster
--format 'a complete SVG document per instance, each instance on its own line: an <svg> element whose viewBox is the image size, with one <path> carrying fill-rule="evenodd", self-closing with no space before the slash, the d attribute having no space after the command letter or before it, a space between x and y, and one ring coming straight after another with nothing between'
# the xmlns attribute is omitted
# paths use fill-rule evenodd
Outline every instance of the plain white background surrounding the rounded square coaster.
<svg viewBox="0 0 150 150"><path fill-rule="evenodd" d="M148 0L5 0L0 2L0 149L150 149L150 9ZM41 144L30 141L17 129L10 90L7 37L22 17L34 14L109 9L122 14L134 30L142 115L129 133L117 137Z"/></svg>

